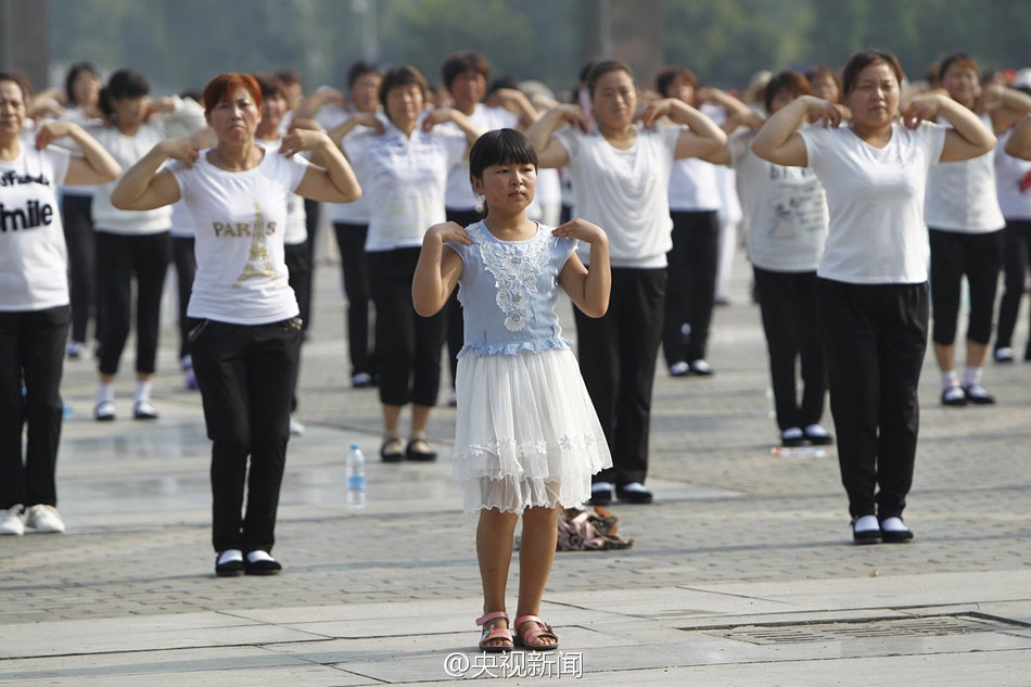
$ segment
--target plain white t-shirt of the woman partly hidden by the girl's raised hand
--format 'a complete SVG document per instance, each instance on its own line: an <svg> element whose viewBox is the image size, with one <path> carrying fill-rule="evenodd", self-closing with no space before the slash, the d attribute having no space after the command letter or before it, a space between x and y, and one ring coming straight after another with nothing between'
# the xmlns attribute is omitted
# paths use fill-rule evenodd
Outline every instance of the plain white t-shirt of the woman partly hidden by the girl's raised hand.
<svg viewBox="0 0 1031 687"><path fill-rule="evenodd" d="M613 267L660 268L673 247L670 232L670 173L678 127L637 128L637 140L619 151L591 127L555 132L569 153L576 215L601 227L609 237ZM581 246L586 262L589 249Z"/></svg>

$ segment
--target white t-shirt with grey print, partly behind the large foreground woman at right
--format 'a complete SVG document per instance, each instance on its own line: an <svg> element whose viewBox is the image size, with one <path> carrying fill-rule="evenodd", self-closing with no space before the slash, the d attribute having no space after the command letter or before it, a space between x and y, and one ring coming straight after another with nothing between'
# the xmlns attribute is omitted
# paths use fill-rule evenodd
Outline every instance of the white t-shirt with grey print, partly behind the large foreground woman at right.
<svg viewBox="0 0 1031 687"><path fill-rule="evenodd" d="M809 167L781 167L752 152L756 131L730 137L730 164L749 217L748 257L762 269L815 271L827 240L827 196Z"/></svg>

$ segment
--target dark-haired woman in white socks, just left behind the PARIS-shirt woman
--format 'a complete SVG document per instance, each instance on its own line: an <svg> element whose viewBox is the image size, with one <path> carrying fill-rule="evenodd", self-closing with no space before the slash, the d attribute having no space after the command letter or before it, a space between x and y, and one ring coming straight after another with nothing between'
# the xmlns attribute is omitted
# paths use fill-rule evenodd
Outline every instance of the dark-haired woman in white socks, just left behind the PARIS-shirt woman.
<svg viewBox="0 0 1031 687"><path fill-rule="evenodd" d="M100 105L107 126L90 131L126 168L173 135L168 128L173 119L193 130L204 127L198 103L179 98L152 102L149 93L147 77L132 69L112 74L101 92ZM187 122L192 122L192 127ZM114 187L114 182L97 187L92 204L97 277L104 314L93 417L100 421L116 417L114 380L135 315L137 381L132 416L137 420L153 420L157 418L157 410L151 402L151 384L157 367L161 298L171 259L171 208L120 211L111 203ZM135 308L131 303L133 281Z"/></svg>

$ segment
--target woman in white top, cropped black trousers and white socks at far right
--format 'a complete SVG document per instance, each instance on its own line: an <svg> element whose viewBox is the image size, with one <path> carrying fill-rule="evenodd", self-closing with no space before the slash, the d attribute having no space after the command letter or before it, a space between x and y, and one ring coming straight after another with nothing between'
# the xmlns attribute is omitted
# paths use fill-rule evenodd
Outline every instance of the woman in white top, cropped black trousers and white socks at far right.
<svg viewBox="0 0 1031 687"><path fill-rule="evenodd" d="M942 61L938 82L950 98L975 112L996 133L1031 112L1031 97L1003 86L982 89L979 79L977 62L957 53ZM981 385L1006 226L995 193L993 152L932 168L924 214L931 244L931 339L942 376L942 404L995 403ZM954 368L964 276L969 287L970 314L967 366L960 380Z"/></svg>

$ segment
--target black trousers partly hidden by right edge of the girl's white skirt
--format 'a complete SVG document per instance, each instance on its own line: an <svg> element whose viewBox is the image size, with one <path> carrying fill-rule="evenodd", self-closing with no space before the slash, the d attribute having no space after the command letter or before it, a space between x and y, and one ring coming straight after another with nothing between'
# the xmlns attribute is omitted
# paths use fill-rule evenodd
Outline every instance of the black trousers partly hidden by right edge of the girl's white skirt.
<svg viewBox="0 0 1031 687"><path fill-rule="evenodd" d="M612 453L612 468L594 482L622 486L648 472L651 386L662 339L665 269L612 269L603 317L574 308L580 371Z"/></svg>

